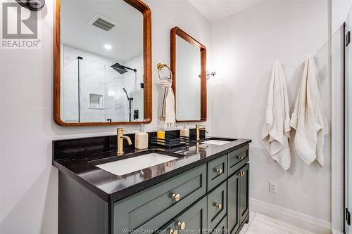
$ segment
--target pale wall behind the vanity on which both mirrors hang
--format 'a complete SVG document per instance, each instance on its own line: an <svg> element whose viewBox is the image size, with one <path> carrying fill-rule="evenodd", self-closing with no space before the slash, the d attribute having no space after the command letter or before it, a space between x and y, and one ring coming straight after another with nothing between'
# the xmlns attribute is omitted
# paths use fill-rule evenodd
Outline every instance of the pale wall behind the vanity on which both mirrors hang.
<svg viewBox="0 0 352 234"><path fill-rule="evenodd" d="M159 86L156 64L170 63L170 29L179 26L210 45L210 25L185 0L145 1L152 12L153 122ZM51 167L51 141L115 134L115 126L61 127L52 115L53 0L39 12L42 48L0 50L0 233L55 234L58 171ZM139 126L124 126L137 130Z"/></svg>

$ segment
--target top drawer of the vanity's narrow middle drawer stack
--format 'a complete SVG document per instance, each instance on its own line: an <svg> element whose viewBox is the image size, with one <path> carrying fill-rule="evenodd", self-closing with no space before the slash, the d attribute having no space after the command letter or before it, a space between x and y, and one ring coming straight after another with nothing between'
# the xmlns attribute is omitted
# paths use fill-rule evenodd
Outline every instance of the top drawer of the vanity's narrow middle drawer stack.
<svg viewBox="0 0 352 234"><path fill-rule="evenodd" d="M227 155L208 162L208 191L227 178Z"/></svg>

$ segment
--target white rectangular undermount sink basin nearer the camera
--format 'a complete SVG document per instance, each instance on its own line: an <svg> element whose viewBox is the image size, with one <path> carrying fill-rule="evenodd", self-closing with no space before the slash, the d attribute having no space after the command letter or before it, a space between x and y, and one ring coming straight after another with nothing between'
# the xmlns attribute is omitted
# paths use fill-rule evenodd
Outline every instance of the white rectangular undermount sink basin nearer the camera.
<svg viewBox="0 0 352 234"><path fill-rule="evenodd" d="M177 160L177 157L171 157L168 155L161 155L156 152L152 152L147 155L129 157L125 160L116 160L114 162L98 164L96 167L99 167L100 169L108 171L112 174L123 176L134 171L139 171L147 167L153 167L155 165L172 160Z"/></svg>

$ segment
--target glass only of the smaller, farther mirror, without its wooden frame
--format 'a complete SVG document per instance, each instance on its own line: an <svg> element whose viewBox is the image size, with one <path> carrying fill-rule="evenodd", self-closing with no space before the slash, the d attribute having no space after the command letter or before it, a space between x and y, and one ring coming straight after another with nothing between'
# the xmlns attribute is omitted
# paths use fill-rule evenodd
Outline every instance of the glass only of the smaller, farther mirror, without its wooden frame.
<svg viewBox="0 0 352 234"><path fill-rule="evenodd" d="M201 51L176 35L176 119L201 119Z"/></svg>

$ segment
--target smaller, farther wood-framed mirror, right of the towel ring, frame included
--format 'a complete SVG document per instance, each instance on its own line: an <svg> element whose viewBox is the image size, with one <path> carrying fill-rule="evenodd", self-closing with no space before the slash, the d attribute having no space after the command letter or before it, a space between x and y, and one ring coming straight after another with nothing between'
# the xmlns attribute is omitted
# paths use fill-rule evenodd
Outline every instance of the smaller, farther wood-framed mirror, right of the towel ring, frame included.
<svg viewBox="0 0 352 234"><path fill-rule="evenodd" d="M176 122L206 121L206 47L179 27L171 30L171 71Z"/></svg>

